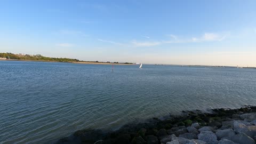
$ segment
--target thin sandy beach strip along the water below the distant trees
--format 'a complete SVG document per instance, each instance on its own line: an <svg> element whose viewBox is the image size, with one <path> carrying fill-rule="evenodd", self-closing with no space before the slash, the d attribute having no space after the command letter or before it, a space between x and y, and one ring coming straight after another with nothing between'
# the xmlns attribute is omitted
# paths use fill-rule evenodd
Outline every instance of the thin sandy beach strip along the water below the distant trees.
<svg viewBox="0 0 256 144"><path fill-rule="evenodd" d="M17 59L0 59L0 61L39 61L39 62L62 62L62 61L50 61L50 60L17 60ZM63 63L79 63L79 64L93 64L93 65L135 65L135 64L125 64L125 63L105 63L105 62L74 62L74 61L67 61Z"/></svg>

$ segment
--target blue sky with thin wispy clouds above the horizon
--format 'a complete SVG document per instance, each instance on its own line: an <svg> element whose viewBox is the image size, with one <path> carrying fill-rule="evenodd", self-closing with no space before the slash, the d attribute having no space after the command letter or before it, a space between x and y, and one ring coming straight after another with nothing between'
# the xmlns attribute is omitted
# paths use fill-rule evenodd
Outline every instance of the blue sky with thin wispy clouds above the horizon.
<svg viewBox="0 0 256 144"><path fill-rule="evenodd" d="M256 67L255 7L255 0L0 0L0 52Z"/></svg>

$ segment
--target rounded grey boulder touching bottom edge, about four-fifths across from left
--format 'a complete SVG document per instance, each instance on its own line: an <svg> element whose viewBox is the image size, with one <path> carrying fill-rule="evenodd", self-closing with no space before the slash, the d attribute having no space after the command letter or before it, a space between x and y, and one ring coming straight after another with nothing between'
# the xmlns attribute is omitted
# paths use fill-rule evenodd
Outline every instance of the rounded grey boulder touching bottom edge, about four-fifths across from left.
<svg viewBox="0 0 256 144"><path fill-rule="evenodd" d="M217 144L217 136L215 133L211 131L202 131L200 134L197 135L198 140L203 140L208 144Z"/></svg>

